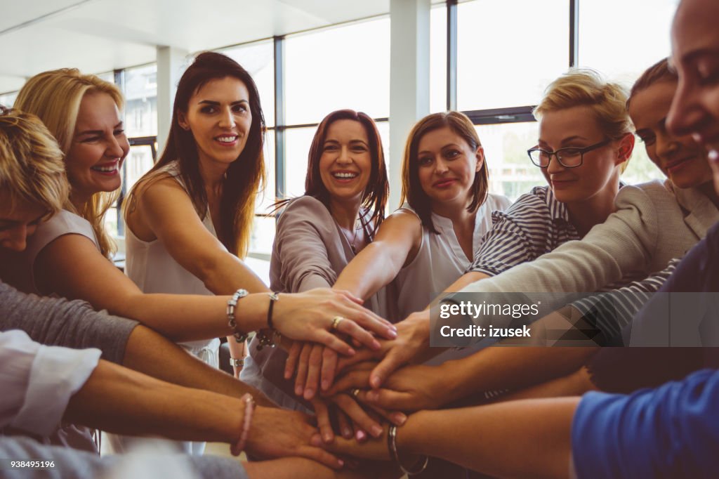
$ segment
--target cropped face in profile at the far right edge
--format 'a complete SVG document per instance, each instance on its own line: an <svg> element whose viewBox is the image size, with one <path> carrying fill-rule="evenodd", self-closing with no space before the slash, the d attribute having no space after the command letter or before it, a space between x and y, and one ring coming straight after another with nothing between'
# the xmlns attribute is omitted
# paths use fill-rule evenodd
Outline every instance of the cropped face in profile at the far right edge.
<svg viewBox="0 0 719 479"><path fill-rule="evenodd" d="M672 63L679 74L667 127L693 134L705 148L719 191L719 4L684 0L672 26Z"/></svg>

